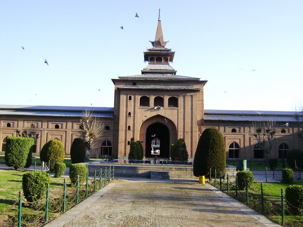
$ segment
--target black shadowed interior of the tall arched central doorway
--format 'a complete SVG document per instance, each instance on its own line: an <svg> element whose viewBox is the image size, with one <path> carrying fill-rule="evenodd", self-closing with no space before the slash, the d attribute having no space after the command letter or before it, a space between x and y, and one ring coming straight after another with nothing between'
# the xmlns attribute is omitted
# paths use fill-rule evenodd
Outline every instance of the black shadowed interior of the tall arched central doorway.
<svg viewBox="0 0 303 227"><path fill-rule="evenodd" d="M146 130L146 140L145 140L145 157L154 157L151 155L151 140L154 138L151 137L156 134L156 137L161 141L160 142L160 157L169 158L169 130L164 124L159 122L151 124ZM158 156L157 156L158 157Z"/></svg>

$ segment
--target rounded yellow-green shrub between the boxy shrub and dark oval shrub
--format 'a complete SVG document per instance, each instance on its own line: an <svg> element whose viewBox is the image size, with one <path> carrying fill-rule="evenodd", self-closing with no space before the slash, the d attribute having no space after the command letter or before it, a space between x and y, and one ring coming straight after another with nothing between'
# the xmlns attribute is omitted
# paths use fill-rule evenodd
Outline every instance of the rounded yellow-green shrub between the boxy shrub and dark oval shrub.
<svg viewBox="0 0 303 227"><path fill-rule="evenodd" d="M49 170L53 171L55 169L55 163L63 162L64 160L64 147L60 140L50 140L46 143L40 152L41 162L49 162Z"/></svg>

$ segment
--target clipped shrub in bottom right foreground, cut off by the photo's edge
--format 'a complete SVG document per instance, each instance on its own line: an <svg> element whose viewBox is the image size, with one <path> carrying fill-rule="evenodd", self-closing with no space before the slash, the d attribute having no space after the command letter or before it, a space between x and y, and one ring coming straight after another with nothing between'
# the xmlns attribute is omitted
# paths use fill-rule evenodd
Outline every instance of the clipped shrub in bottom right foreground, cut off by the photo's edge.
<svg viewBox="0 0 303 227"><path fill-rule="evenodd" d="M291 185L285 189L285 199L293 215L303 215L303 185Z"/></svg>

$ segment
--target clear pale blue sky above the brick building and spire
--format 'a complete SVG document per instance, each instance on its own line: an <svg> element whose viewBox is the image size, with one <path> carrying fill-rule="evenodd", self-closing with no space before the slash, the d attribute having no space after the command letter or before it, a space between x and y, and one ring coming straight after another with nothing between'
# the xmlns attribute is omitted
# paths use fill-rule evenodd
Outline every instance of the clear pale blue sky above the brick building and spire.
<svg viewBox="0 0 303 227"><path fill-rule="evenodd" d="M301 0L2 0L0 104L113 107L111 79L141 74L159 8L177 75L208 80L205 109L303 102Z"/></svg>

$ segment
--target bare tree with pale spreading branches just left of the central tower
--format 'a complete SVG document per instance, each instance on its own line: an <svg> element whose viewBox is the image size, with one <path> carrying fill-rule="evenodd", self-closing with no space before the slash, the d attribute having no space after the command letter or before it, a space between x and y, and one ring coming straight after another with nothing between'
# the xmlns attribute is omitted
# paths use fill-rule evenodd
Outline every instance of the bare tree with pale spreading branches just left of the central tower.
<svg viewBox="0 0 303 227"><path fill-rule="evenodd" d="M89 160L90 150L99 146L97 140L100 139L104 133L104 124L99 117L93 116L91 110L82 112L80 122L82 139L85 145L85 159Z"/></svg>

